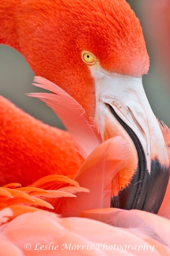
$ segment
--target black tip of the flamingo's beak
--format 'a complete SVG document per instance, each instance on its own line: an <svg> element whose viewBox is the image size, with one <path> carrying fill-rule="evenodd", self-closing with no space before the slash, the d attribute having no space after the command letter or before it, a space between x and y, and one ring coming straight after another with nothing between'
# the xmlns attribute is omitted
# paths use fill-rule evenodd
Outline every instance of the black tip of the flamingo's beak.
<svg viewBox="0 0 170 256"><path fill-rule="evenodd" d="M141 180L139 168L135 171L127 187L111 198L111 207L121 209L140 209L158 213L169 181L169 168L160 164L158 159L151 162L151 173L145 172ZM139 184L142 188L139 189Z"/></svg>

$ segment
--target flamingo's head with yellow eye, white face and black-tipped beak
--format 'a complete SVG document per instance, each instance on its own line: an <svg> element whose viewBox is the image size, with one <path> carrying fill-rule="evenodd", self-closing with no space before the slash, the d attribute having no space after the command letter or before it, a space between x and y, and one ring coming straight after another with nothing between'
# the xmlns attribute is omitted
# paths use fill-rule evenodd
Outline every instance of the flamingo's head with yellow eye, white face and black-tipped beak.
<svg viewBox="0 0 170 256"><path fill-rule="evenodd" d="M128 3L24 1L18 20L18 49L36 75L74 97L95 119L103 141L120 135L129 144L133 158L112 181L111 206L158 212L169 160L143 90L149 60Z"/></svg>

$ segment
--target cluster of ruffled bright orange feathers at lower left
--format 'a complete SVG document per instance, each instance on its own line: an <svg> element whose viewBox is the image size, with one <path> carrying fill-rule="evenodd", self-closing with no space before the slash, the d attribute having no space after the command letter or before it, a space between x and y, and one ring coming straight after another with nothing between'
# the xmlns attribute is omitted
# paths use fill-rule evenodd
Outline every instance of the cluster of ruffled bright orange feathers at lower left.
<svg viewBox="0 0 170 256"><path fill-rule="evenodd" d="M9 188L10 186L12 188ZM69 187L67 188L67 186ZM28 187L18 188L18 184L16 184L16 187L14 184L9 184L0 188L0 210L7 207L12 209L13 217L31 212L34 207L45 207L52 210L54 207L48 202L49 199L76 197L74 194L78 192L89 191L80 187L77 181L62 175L43 177Z"/></svg>

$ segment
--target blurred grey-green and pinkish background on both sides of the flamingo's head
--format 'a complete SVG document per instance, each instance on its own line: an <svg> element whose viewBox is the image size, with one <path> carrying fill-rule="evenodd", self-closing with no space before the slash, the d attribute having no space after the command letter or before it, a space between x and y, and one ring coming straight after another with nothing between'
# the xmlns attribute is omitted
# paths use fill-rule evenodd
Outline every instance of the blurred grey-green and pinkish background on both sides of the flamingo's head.
<svg viewBox="0 0 170 256"><path fill-rule="evenodd" d="M159 34L158 27L156 27L156 22L160 24L159 18L162 19L161 24L163 26L167 22L165 13L163 13L163 10L168 10L167 6L163 6L163 3L166 5L167 0L128 0L127 2L141 21L148 54L150 55L150 71L148 75L143 76L143 85L148 101L156 117L159 120L163 120L170 127L170 69L168 70L168 63L166 63L161 54L166 47L162 45L166 38ZM157 2L158 6L156 6ZM167 3L167 5L169 4ZM154 7L157 9L154 10ZM160 9L162 16L159 16ZM170 19L169 13L170 9L168 11ZM167 29L170 30L170 22ZM161 27L160 30L162 31ZM164 32L166 33L166 30ZM163 40L162 44L159 39ZM161 48L156 48L158 47L157 43ZM170 49L169 44L167 47ZM167 61L170 60L170 55L168 56ZM25 96L25 93L29 92L42 92L42 89L31 85L33 77L33 72L20 53L10 47L0 45L0 94L32 116L49 125L63 129L62 123L50 108L36 98Z"/></svg>

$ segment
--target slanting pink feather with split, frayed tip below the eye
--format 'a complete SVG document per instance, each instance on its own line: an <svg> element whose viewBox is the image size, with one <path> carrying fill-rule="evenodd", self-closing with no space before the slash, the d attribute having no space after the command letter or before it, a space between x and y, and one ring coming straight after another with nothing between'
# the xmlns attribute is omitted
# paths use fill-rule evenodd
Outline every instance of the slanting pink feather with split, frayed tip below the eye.
<svg viewBox="0 0 170 256"><path fill-rule="evenodd" d="M74 139L80 154L86 159L101 143L95 123L88 122L87 114L82 106L59 86L39 76L35 77L34 81L36 83L33 85L50 90L54 94L30 93L27 95L40 98L54 110Z"/></svg>

